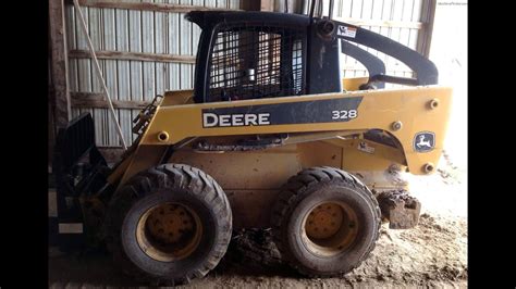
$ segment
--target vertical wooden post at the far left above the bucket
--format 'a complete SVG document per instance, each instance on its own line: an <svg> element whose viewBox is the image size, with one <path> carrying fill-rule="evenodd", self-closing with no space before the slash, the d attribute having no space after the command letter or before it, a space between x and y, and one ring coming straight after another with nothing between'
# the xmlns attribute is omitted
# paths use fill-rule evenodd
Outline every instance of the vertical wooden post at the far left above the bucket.
<svg viewBox="0 0 516 289"><path fill-rule="evenodd" d="M64 127L71 116L71 106L63 0L49 0L49 29L54 124L57 127Z"/></svg>

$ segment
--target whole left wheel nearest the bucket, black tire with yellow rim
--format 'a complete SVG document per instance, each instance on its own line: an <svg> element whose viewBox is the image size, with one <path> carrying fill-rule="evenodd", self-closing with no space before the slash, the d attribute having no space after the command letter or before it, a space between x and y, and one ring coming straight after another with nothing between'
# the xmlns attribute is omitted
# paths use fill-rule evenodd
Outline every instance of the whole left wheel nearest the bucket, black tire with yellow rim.
<svg viewBox="0 0 516 289"><path fill-rule="evenodd" d="M113 196L107 216L114 262L155 285L204 277L224 255L231 231L231 208L222 188L184 164L135 175Z"/></svg>

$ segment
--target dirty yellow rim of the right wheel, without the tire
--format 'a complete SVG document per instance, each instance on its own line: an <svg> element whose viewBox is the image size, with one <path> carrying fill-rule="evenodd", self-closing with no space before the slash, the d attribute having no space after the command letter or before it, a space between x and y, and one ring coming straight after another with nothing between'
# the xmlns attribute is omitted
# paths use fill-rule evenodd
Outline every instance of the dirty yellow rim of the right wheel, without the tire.
<svg viewBox="0 0 516 289"><path fill-rule="evenodd" d="M307 249L317 255L331 256L345 251L358 233L355 211L342 202L322 202L308 211L302 236Z"/></svg>

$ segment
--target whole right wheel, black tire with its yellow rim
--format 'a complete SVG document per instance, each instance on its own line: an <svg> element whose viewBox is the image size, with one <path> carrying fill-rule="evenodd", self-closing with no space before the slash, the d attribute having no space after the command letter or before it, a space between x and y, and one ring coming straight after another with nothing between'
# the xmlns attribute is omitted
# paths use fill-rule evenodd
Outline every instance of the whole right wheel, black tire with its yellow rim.
<svg viewBox="0 0 516 289"><path fill-rule="evenodd" d="M359 266L374 248L381 225L371 191L333 167L291 177L272 212L282 257L311 277L340 276Z"/></svg>

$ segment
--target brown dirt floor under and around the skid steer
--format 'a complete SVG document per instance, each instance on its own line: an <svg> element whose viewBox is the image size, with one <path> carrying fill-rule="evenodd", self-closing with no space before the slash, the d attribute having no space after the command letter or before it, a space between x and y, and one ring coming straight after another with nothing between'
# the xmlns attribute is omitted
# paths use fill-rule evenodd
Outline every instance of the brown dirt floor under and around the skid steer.
<svg viewBox="0 0 516 289"><path fill-rule="evenodd" d="M437 174L410 178L422 202L419 225L391 230L388 224L371 256L340 278L309 279L282 264L268 230L237 231L219 266L182 288L467 287L466 172L444 154ZM63 254L50 248L51 288L135 286L103 253Z"/></svg>

